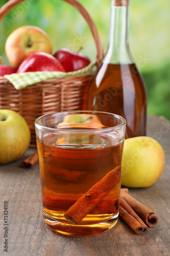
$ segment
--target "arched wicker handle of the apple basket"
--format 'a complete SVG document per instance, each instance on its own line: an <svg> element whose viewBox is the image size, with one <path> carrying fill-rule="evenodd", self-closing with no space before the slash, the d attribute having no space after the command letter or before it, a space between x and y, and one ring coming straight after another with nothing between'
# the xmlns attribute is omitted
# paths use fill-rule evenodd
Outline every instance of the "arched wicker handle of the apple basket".
<svg viewBox="0 0 170 256"><path fill-rule="evenodd" d="M0 22L3 19L3 17L11 11L11 9L13 7L15 7L17 4L20 4L21 2L24 2L26 0L9 0L3 7L1 7L0 9ZM84 9L84 7L77 2L76 0L62 0L72 6L74 6L75 8L78 9L78 11L82 14L82 16L85 18L86 22L88 23L91 33L93 35L94 41L95 41L95 45L96 45L96 49L97 49L97 56L96 56L96 62L99 64L103 57L104 57L104 49L103 49L103 45L98 33L98 30L96 29L96 26L92 20L92 18L90 17L90 15L88 14L88 12Z"/></svg>

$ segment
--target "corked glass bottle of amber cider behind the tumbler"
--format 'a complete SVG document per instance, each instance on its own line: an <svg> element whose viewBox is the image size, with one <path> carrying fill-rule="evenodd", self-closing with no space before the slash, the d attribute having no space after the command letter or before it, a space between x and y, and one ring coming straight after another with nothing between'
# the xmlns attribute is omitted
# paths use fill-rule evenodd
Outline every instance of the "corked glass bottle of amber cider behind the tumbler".
<svg viewBox="0 0 170 256"><path fill-rule="evenodd" d="M129 49L129 0L111 0L109 47L89 88L87 109L127 121L127 137L144 136L147 98Z"/></svg>

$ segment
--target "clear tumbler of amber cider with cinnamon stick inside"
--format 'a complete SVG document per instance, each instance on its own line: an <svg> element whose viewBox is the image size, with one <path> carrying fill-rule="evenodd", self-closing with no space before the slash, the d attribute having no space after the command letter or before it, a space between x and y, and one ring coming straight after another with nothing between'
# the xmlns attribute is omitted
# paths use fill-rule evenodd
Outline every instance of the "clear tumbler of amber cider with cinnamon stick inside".
<svg viewBox="0 0 170 256"><path fill-rule="evenodd" d="M35 121L43 219L69 236L92 236L118 220L126 121L95 111Z"/></svg>

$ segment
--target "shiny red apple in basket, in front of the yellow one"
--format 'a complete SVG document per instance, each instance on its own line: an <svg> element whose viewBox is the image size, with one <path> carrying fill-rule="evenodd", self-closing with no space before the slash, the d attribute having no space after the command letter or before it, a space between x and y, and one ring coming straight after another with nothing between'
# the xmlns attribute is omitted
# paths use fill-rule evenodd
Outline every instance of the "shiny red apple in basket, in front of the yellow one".
<svg viewBox="0 0 170 256"><path fill-rule="evenodd" d="M19 66L17 73L36 71L65 72L61 63L51 54L36 52L27 57Z"/></svg>

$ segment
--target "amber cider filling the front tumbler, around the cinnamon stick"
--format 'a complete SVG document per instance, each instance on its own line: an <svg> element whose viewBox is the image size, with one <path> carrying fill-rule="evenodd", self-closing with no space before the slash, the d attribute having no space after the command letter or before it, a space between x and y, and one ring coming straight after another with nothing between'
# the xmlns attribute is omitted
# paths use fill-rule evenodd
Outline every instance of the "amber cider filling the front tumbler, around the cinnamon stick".
<svg viewBox="0 0 170 256"><path fill-rule="evenodd" d="M84 143L76 144L79 138ZM45 223L71 236L91 236L113 227L118 219L120 182L102 199L117 199L114 210L96 206L78 225L70 224L64 214L108 172L122 165L123 141L115 134L95 135L95 139L89 135L82 139L82 135L62 138L50 134L37 141L37 148Z"/></svg>

